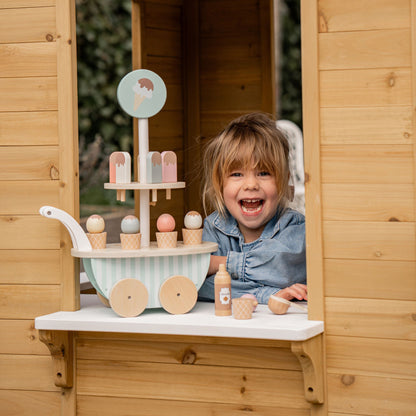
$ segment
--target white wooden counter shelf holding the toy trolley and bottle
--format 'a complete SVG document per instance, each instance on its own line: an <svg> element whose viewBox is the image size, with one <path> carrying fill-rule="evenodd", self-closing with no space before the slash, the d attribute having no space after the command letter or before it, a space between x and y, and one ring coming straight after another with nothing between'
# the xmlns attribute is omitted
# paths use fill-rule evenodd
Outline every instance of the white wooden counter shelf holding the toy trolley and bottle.
<svg viewBox="0 0 416 416"><path fill-rule="evenodd" d="M103 306L95 295L81 295L79 311L40 316L35 319L35 328L305 341L322 333L324 324L308 320L306 313L294 308L289 308L285 315L274 315L266 305L259 305L252 319L239 321L232 316L215 316L214 304L205 302L198 302L184 315L146 309L138 317L121 318Z"/></svg>

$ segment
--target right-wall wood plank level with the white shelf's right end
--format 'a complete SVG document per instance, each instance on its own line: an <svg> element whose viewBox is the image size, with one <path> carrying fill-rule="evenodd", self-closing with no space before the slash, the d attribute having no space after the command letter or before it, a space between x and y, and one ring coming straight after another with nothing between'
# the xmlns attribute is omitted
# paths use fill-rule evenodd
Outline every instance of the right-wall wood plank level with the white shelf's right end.
<svg viewBox="0 0 416 416"><path fill-rule="evenodd" d="M416 340L415 301L329 298L325 332L349 337Z"/></svg>

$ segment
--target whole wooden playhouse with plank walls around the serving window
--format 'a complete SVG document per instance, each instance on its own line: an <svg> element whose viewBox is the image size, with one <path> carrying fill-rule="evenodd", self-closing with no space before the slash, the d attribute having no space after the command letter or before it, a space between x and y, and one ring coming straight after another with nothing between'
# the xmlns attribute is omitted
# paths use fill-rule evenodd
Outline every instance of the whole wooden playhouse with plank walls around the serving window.
<svg viewBox="0 0 416 416"><path fill-rule="evenodd" d="M151 146L183 177L223 122L275 111L275 6L133 1L133 67L170 91ZM80 307L69 235L38 214L78 216L75 44L73 0L0 1L0 413L414 415L416 1L302 1L308 317L325 328L303 340L102 327L40 342L36 317ZM177 192L155 216L195 208L197 182Z"/></svg>

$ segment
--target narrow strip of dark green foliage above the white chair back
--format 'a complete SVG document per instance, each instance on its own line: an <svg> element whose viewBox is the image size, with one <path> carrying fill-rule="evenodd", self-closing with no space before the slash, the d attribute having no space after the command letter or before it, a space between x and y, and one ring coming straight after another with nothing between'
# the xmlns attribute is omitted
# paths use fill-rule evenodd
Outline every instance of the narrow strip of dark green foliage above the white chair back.
<svg viewBox="0 0 416 416"><path fill-rule="evenodd" d="M302 126L300 0L281 0L280 114Z"/></svg>

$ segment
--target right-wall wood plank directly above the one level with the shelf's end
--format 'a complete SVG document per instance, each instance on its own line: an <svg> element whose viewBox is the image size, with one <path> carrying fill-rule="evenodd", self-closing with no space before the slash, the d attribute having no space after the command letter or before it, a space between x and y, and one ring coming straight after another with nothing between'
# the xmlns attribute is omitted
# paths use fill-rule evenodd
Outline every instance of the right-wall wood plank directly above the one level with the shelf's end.
<svg viewBox="0 0 416 416"><path fill-rule="evenodd" d="M326 296L416 300L413 261L327 259L324 272Z"/></svg>

